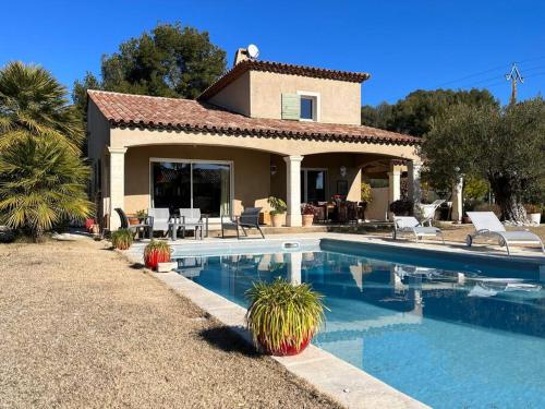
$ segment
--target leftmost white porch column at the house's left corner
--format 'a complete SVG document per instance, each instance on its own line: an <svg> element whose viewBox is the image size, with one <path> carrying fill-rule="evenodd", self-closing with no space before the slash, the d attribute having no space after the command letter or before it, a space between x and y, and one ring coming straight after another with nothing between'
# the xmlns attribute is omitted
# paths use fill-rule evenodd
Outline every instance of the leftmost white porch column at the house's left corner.
<svg viewBox="0 0 545 409"><path fill-rule="evenodd" d="M126 147L109 147L108 151L110 152L110 231L113 231L121 226L116 208L124 209Z"/></svg>

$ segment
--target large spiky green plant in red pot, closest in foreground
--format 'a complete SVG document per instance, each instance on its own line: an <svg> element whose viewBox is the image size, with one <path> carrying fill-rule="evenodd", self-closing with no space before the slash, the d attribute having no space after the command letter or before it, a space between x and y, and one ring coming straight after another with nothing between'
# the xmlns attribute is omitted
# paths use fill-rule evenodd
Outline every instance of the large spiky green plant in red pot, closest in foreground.
<svg viewBox="0 0 545 409"><path fill-rule="evenodd" d="M256 347L272 356L303 351L324 323L323 296L307 284L277 278L246 291L246 325Z"/></svg>

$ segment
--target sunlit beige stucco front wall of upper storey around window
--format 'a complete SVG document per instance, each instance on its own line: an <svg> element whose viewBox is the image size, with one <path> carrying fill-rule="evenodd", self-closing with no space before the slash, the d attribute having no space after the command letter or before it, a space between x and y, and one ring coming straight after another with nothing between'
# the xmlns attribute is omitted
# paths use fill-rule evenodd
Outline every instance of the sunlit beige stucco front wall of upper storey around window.
<svg viewBox="0 0 545 409"><path fill-rule="evenodd" d="M304 91L319 93L320 122L361 124L359 83L261 71L250 72L251 116L281 119L281 95Z"/></svg>

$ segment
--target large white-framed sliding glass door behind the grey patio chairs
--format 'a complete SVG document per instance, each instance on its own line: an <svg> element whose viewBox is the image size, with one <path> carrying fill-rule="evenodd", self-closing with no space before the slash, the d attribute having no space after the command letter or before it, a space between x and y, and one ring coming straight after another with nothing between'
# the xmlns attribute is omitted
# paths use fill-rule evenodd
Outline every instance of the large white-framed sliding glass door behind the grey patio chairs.
<svg viewBox="0 0 545 409"><path fill-rule="evenodd" d="M210 217L231 213L231 164L152 160L152 206L199 208Z"/></svg>

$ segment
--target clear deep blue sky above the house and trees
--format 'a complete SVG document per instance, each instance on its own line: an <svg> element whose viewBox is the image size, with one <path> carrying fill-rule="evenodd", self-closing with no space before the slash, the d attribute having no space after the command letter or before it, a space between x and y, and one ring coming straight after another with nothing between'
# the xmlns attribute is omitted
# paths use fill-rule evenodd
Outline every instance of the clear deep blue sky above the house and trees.
<svg viewBox="0 0 545 409"><path fill-rule="evenodd" d="M207 31L229 67L256 44L263 60L368 72L364 105L438 87L485 87L506 104L512 62L519 99L545 91L543 0L9 0L2 14L0 65L39 63L69 88L122 41L181 22Z"/></svg>

